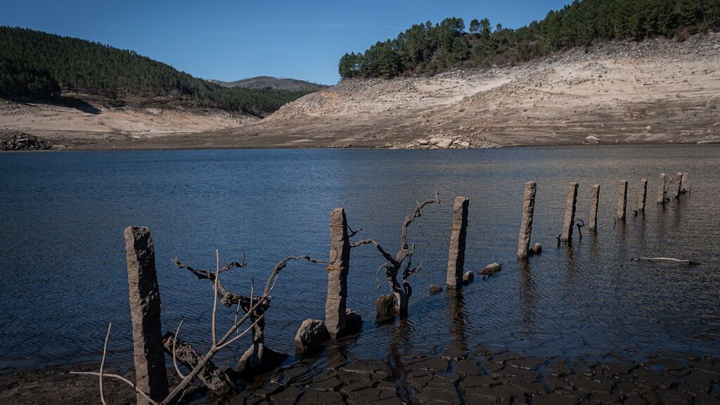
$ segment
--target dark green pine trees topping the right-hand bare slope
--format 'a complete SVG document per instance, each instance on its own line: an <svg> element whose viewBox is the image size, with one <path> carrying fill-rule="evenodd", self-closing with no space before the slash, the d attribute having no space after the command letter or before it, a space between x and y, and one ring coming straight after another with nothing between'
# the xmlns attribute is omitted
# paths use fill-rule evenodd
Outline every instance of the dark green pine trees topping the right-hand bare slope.
<svg viewBox="0 0 720 405"><path fill-rule="evenodd" d="M542 55L590 46L603 40L642 40L720 29L720 0L575 0L530 25L511 30L488 19L462 19L413 25L394 40L364 53L346 53L338 71L346 77L436 73L459 66L517 63Z"/></svg>

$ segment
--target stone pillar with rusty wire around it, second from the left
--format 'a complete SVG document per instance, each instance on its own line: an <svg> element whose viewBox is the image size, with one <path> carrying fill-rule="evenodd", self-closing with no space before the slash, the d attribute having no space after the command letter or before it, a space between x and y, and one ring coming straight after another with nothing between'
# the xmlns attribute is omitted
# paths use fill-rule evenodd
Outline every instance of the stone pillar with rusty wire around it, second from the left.
<svg viewBox="0 0 720 405"><path fill-rule="evenodd" d="M325 326L333 339L341 335L345 329L350 268L350 240L347 225L343 208L336 208L330 213L330 264L328 265L328 298L325 301Z"/></svg>

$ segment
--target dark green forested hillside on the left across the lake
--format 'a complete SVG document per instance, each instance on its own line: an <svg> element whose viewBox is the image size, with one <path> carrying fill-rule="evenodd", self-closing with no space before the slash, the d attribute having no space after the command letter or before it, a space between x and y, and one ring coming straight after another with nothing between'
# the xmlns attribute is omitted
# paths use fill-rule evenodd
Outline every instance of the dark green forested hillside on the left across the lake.
<svg viewBox="0 0 720 405"><path fill-rule="evenodd" d="M0 95L50 99L63 92L140 95L262 115L309 93L223 88L172 66L107 45L0 27Z"/></svg>

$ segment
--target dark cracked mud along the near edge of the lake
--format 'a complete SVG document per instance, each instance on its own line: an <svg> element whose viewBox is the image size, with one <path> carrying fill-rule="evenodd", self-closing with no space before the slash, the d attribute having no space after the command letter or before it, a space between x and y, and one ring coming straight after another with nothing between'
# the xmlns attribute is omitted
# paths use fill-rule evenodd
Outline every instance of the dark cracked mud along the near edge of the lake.
<svg viewBox="0 0 720 405"><path fill-rule="evenodd" d="M301 360L245 384L240 394L224 400L238 405L720 402L720 360L688 353L658 351L636 361L621 352L609 352L590 361L480 348L392 357L392 362L348 362L330 355ZM132 370L125 374L131 378ZM0 404L99 404L96 384L96 378L73 376L60 368L0 375ZM112 380L105 392L109 404L134 401L130 389ZM183 402L220 401L194 386Z"/></svg>

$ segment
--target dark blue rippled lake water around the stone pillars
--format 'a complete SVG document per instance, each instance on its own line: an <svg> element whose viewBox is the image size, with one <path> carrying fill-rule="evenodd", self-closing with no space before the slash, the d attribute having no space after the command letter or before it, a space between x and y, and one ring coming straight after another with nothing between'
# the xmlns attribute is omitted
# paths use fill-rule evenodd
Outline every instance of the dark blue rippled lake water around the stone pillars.
<svg viewBox="0 0 720 405"><path fill-rule="evenodd" d="M657 205L660 172L688 172L692 192ZM632 215L640 179L644 215ZM538 184L527 266L515 259L523 185ZM629 180L629 217L615 223L618 184ZM588 219L601 184L598 234L557 247L568 182L579 182L577 217ZM264 285L291 254L327 258L330 210L346 208L359 236L395 252L402 219L439 192L410 228L422 272L411 279L410 319L377 325L377 251L353 249L348 307L365 319L346 344L356 358L384 358L398 342L413 350L497 344L532 355L600 355L657 349L720 355L720 146L593 146L467 151L246 150L0 154L0 368L99 360L113 322L109 361L132 362L126 226L149 226L156 246L163 330L200 350L210 339L210 283L171 259L206 269L240 259L225 285ZM500 262L495 277L462 297L443 285L452 199L469 197L466 269ZM678 257L701 265L636 262ZM323 319L322 264L283 270L267 314L266 342L294 353L302 320ZM220 308L224 319L233 311ZM225 352L238 358L247 340ZM323 356L321 352L318 356ZM294 357L290 357L292 361ZM228 360L227 364L234 364Z"/></svg>

